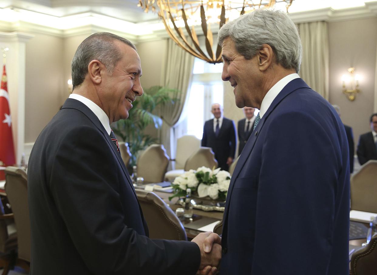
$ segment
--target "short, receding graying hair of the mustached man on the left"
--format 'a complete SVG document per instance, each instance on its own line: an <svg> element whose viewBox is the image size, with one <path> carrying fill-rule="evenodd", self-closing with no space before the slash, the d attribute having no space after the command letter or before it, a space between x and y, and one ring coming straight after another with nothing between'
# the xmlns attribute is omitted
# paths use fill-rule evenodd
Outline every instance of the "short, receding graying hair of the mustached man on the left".
<svg viewBox="0 0 377 275"><path fill-rule="evenodd" d="M135 45L129 40L110 32L96 32L87 37L78 46L72 59L72 88L84 82L88 72L88 65L92 60L98 60L106 66L108 74L112 74L116 63L122 58L122 54L113 43L119 40L136 51Z"/></svg>

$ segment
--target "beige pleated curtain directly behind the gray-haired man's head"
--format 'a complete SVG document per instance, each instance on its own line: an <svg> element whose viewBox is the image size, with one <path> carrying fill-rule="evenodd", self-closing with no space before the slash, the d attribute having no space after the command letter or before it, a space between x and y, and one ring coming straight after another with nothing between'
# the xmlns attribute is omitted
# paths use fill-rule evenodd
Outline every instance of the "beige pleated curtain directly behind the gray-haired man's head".
<svg viewBox="0 0 377 275"><path fill-rule="evenodd" d="M326 100L329 100L329 39L327 22L297 25L302 43L300 77Z"/></svg>

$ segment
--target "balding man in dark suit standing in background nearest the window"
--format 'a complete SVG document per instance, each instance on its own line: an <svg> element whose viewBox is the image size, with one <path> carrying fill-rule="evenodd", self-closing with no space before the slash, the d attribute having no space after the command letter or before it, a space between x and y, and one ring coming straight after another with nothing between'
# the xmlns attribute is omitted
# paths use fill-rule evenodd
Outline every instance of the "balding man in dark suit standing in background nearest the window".
<svg viewBox="0 0 377 275"><path fill-rule="evenodd" d="M222 116L220 104L212 104L211 112L215 119L204 123L202 146L211 147L219 167L228 171L236 152L236 127L233 120Z"/></svg>

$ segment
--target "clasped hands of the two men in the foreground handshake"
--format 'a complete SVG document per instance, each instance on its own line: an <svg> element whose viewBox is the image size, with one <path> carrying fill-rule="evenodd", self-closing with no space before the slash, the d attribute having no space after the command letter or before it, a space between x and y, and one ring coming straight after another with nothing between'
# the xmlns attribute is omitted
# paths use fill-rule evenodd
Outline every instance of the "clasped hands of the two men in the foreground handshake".
<svg viewBox="0 0 377 275"><path fill-rule="evenodd" d="M200 266L197 274L214 275L221 260L221 237L216 233L203 232L192 239L200 249Z"/></svg>

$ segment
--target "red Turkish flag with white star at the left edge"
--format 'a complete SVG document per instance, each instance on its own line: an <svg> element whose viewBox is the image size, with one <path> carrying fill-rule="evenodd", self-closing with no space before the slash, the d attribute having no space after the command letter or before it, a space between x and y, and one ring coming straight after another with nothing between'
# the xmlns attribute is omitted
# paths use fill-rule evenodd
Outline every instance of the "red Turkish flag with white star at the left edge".
<svg viewBox="0 0 377 275"><path fill-rule="evenodd" d="M14 156L12 118L9 107L9 94L6 84L5 65L0 89L0 165L9 166L16 163ZM0 180L5 179L4 171L0 171Z"/></svg>

